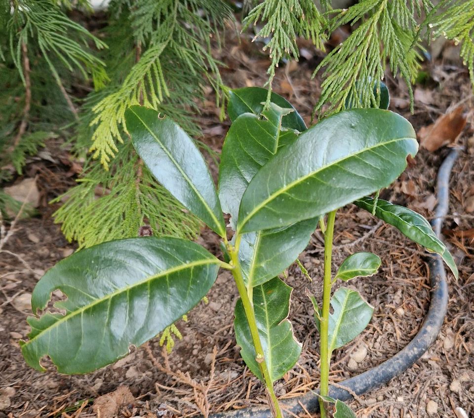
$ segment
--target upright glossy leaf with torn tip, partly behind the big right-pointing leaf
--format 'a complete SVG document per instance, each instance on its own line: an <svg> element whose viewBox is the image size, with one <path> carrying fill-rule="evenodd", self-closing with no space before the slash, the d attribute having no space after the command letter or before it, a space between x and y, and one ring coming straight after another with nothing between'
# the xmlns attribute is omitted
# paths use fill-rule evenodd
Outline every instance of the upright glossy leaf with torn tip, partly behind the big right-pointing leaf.
<svg viewBox="0 0 474 418"><path fill-rule="evenodd" d="M263 112L264 119L245 113L232 124L221 154L219 198L225 212L231 214L235 229L238 206L248 183L262 166L297 135L281 128L290 109L276 104ZM286 269L308 245L317 219L284 228L243 234L238 257L246 284L262 284Z"/></svg>

